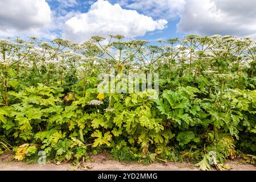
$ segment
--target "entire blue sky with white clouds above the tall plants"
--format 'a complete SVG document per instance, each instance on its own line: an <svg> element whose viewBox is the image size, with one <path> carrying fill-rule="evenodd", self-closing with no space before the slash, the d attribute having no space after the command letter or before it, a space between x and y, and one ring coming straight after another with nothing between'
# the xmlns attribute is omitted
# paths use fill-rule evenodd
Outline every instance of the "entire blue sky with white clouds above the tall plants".
<svg viewBox="0 0 256 182"><path fill-rule="evenodd" d="M154 43L186 34L256 38L254 0L6 0L0 36L84 42L123 34Z"/></svg>

